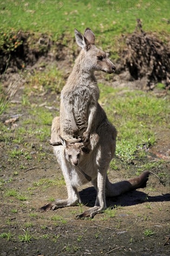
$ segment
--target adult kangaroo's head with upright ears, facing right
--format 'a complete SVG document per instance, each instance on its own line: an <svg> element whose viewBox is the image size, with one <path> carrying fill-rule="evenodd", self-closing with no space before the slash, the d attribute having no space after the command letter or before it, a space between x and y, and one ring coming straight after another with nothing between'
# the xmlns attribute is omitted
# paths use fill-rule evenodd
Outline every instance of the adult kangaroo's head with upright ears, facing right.
<svg viewBox="0 0 170 256"><path fill-rule="evenodd" d="M82 50L82 58L84 58L85 68L88 70L101 70L106 73L114 73L115 65L107 58L105 52L98 49L94 45L95 35L90 28L85 29L85 34L81 34L77 29L74 29L75 38L78 46Z"/></svg>

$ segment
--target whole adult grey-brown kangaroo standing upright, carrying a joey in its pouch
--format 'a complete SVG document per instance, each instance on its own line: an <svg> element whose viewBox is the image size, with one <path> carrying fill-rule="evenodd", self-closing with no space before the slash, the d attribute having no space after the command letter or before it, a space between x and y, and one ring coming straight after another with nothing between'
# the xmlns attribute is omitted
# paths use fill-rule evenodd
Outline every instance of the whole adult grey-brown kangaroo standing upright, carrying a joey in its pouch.
<svg viewBox="0 0 170 256"><path fill-rule="evenodd" d="M77 187L91 181L97 189L95 206L78 218L93 217L106 208L105 195L115 196L139 187L149 172L116 184L109 182L107 169L116 147L116 128L108 121L98 104L99 89L95 70L114 73L115 65L94 45L90 28L85 34L75 29L78 45L82 47L65 87L61 92L60 116L52 122L51 144L58 158L68 192L68 198L48 203L42 210L74 206L81 202ZM82 137L82 142L63 138ZM88 144L88 146L87 146Z"/></svg>

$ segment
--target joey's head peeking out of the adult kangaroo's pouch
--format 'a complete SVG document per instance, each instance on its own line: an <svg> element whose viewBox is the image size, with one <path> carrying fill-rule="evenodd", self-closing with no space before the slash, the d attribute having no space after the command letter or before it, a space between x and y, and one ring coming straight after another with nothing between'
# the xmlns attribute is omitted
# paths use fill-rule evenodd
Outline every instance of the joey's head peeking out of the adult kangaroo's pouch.
<svg viewBox="0 0 170 256"><path fill-rule="evenodd" d="M72 165L77 166L81 160L81 157L85 154L89 153L88 148L86 148L86 144L83 142L74 142L70 143L63 139L61 136L61 144L65 147L65 158L67 161L71 162Z"/></svg>

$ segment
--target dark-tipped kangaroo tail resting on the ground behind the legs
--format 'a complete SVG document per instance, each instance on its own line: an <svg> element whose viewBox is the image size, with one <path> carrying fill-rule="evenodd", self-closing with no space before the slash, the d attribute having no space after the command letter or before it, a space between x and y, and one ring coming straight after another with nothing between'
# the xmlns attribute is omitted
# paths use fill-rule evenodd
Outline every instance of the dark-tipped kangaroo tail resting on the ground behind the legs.
<svg viewBox="0 0 170 256"><path fill-rule="evenodd" d="M113 184L106 178L105 194L109 197L118 196L132 189L144 187L149 175L149 171L144 171L140 176Z"/></svg>

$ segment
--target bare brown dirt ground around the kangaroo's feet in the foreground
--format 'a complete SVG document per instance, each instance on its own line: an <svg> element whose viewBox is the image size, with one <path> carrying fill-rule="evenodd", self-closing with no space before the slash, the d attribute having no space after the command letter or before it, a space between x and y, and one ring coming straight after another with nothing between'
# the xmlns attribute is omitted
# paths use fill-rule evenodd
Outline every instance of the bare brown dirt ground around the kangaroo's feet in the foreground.
<svg viewBox="0 0 170 256"><path fill-rule="evenodd" d="M13 186L21 192L39 178L61 176L56 162L43 162L43 167L24 171L19 179L16 178ZM8 171L12 170L9 168ZM116 182L127 177L127 172L110 172L109 177L112 182ZM149 191L150 187L156 191ZM96 191L90 185L80 188L79 191L85 204L83 209L92 207ZM3 198L1 191L0 233L11 230L14 238L12 241L1 238L0 255L169 255L170 244L166 243L170 235L169 192L168 187L151 175L146 188L107 200L108 207L117 205L115 217L107 218L103 213L95 216L93 220L76 220L74 217L81 210L80 206L46 213L38 211L49 196L65 198L65 185L49 187L45 192L41 189L34 190L31 200L25 201L24 208L18 205L17 199L10 203L7 198ZM14 206L18 209L15 215L10 211ZM35 216L30 216L30 213ZM52 217L56 214L62 216L66 223L53 221ZM7 224L7 219L10 224ZM26 222L33 223L29 232L36 239L31 239L31 243L16 241L16 237L24 233ZM146 229L151 229L154 234L144 236ZM46 234L49 238L42 238ZM58 235L59 238L56 238Z"/></svg>

